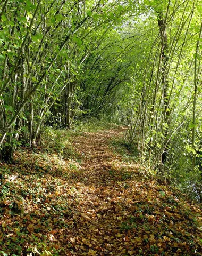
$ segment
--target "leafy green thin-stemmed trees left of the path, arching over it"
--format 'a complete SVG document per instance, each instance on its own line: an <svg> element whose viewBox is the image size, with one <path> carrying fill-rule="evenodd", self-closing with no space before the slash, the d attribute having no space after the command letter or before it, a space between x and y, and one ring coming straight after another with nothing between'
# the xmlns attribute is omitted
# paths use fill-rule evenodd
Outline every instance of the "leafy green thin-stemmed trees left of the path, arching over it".
<svg viewBox="0 0 202 256"><path fill-rule="evenodd" d="M119 12L111 1L2 5L0 146L4 161L11 161L18 146L11 143L13 139L35 147L46 125L70 128L76 116L89 111L83 103L91 90L87 80L94 57L100 43L123 23L130 5L122 2Z"/></svg>

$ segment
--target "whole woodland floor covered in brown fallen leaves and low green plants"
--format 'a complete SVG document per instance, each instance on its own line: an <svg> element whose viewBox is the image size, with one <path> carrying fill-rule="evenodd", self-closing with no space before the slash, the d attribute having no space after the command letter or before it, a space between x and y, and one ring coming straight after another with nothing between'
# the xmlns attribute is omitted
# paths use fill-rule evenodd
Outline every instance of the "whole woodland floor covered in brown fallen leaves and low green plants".
<svg viewBox="0 0 202 256"><path fill-rule="evenodd" d="M1 164L0 255L202 255L199 205L149 177L124 131L64 131Z"/></svg>

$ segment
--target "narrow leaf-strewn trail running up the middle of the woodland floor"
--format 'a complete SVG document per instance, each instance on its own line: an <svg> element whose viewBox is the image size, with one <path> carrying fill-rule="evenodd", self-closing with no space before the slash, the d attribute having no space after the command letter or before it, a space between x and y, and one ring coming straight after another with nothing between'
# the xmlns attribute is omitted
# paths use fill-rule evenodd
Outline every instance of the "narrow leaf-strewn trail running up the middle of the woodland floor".
<svg viewBox="0 0 202 256"><path fill-rule="evenodd" d="M122 220L129 215L127 201L131 201L131 189L127 186L127 177L124 177L122 157L114 154L109 146L110 140L117 139L124 131L119 127L117 130L85 133L72 143L82 156L82 182L77 183L80 193L77 210L80 214L75 217L77 228L73 239L75 243L83 243L78 247L78 251L83 251L74 252L75 255L127 255L125 246L128 242L125 239L128 238L120 234L120 229ZM136 164L129 165L132 173L137 175ZM132 178L132 173L128 178ZM130 253L133 255L132 251Z"/></svg>

